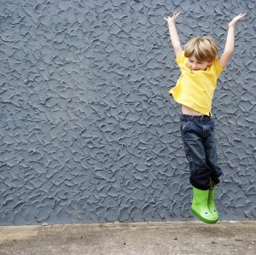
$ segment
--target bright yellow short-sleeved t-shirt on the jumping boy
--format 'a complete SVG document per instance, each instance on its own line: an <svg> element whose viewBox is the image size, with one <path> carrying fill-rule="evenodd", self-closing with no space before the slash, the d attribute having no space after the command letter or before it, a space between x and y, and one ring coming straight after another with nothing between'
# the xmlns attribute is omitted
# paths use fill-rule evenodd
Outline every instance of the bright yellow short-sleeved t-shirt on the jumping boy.
<svg viewBox="0 0 256 255"><path fill-rule="evenodd" d="M190 107L193 110L209 115L212 108L212 97L217 87L217 79L224 70L218 63L218 57L205 71L190 71L188 58L184 51L176 58L177 66L181 71L177 84L169 94L179 104Z"/></svg>

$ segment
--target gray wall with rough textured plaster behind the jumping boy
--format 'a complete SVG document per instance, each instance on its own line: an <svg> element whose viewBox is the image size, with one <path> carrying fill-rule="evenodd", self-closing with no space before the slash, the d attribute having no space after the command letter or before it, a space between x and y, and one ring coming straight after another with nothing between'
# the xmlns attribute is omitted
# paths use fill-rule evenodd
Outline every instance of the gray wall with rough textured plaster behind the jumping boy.
<svg viewBox="0 0 256 255"><path fill-rule="evenodd" d="M194 220L167 93L174 10L182 43L212 35L220 50L247 13L212 113L220 219L256 218L255 1L1 0L1 225Z"/></svg>

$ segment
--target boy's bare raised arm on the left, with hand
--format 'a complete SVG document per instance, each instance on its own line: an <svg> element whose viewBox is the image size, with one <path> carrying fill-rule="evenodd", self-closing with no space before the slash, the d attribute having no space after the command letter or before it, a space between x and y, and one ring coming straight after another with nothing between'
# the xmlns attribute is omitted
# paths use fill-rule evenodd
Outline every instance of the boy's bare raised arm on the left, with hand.
<svg viewBox="0 0 256 255"><path fill-rule="evenodd" d="M179 14L179 12L175 12L172 15L172 17L168 16L167 18L164 18L168 23L170 38L172 41L172 47L174 49L174 53L176 56L180 55L183 51L179 37L177 35L177 29L176 29L176 25L175 25L178 14Z"/></svg>

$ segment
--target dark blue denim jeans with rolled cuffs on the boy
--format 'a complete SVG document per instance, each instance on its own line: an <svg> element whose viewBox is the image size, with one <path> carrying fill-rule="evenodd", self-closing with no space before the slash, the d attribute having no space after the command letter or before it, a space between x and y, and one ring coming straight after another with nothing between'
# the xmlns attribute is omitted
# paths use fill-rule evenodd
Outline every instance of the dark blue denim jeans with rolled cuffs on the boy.
<svg viewBox="0 0 256 255"><path fill-rule="evenodd" d="M217 165L214 122L211 117L182 114L180 129L186 158L189 160L189 181L195 188L207 190L210 179L219 183L222 175Z"/></svg>

